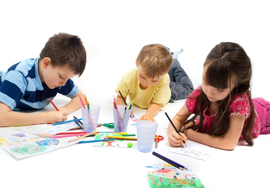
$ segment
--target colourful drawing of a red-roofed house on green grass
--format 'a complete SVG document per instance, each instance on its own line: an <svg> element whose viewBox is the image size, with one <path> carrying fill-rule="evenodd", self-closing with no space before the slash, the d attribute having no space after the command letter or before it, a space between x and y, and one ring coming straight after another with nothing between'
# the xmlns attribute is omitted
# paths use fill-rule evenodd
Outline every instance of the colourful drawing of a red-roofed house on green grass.
<svg viewBox="0 0 270 188"><path fill-rule="evenodd" d="M191 170L179 170L174 166L163 163L146 166L147 179L151 188L204 188L202 182Z"/></svg>

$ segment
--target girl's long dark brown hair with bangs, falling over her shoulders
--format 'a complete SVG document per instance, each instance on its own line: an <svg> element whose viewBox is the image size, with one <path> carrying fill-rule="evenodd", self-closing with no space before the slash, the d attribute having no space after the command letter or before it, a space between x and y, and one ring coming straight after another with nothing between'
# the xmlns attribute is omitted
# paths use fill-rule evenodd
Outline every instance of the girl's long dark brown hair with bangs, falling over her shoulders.
<svg viewBox="0 0 270 188"><path fill-rule="evenodd" d="M254 107L251 101L250 81L252 76L251 62L245 50L236 43L222 42L217 44L207 55L204 63L203 79L212 87L219 89L231 88L232 84L235 87L225 99L217 101L217 116L213 120L211 127L206 134L214 136L223 136L229 129L229 113L228 106L231 103L232 97L237 94L246 93L250 103L250 118L243 128L242 136L245 141L253 145L252 128L254 124ZM200 89L201 90L201 89ZM195 119L200 119L200 123L192 127L193 130L200 132L203 124L203 111L210 106L205 93L201 90L197 97L194 116L183 123L182 127Z"/></svg>

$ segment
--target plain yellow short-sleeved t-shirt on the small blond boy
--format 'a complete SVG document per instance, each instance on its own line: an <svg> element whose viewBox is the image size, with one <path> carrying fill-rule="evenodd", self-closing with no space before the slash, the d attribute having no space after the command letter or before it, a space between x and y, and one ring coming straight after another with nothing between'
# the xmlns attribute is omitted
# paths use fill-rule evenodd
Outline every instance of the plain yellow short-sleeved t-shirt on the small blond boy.
<svg viewBox="0 0 270 188"><path fill-rule="evenodd" d="M123 97L129 95L130 99L136 98L134 104L140 108L148 108L151 102L165 105L171 98L170 77L165 74L154 86L148 86L146 90L140 88L137 79L137 68L127 71L115 88L115 92L121 91Z"/></svg>

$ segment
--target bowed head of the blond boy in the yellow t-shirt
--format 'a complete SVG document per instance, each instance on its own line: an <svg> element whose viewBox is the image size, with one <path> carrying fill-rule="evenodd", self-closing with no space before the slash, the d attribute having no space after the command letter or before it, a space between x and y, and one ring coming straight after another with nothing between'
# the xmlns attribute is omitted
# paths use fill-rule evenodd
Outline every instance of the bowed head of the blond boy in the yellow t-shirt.
<svg viewBox="0 0 270 188"><path fill-rule="evenodd" d="M172 54L161 44L148 44L140 51L136 65L137 77L143 86L157 84L172 66Z"/></svg>

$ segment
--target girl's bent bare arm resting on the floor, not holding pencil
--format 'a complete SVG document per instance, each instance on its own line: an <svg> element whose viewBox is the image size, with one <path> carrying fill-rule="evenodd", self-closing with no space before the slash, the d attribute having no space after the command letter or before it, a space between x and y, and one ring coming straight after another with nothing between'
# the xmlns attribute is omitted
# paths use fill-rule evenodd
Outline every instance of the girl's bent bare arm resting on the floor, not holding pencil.
<svg viewBox="0 0 270 188"><path fill-rule="evenodd" d="M235 148L241 132L243 130L245 115L232 115L230 117L230 126L228 132L217 137L205 133L198 133L192 129L185 130L188 139L194 140L214 148L232 150Z"/></svg>

